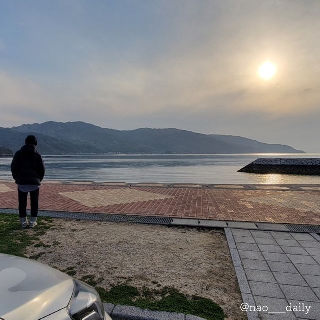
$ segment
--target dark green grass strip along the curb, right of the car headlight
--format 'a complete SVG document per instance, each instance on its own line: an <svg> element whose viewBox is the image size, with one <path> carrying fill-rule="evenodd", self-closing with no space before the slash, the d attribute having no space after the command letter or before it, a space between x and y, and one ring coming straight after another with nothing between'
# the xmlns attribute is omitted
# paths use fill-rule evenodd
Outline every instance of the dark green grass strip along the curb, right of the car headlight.
<svg viewBox="0 0 320 320"><path fill-rule="evenodd" d="M164 287L161 290L143 288L138 290L131 285L116 285L109 291L95 288L101 299L107 303L133 305L142 309L192 314L207 320L223 320L223 309L210 299L187 296L177 289Z"/></svg>

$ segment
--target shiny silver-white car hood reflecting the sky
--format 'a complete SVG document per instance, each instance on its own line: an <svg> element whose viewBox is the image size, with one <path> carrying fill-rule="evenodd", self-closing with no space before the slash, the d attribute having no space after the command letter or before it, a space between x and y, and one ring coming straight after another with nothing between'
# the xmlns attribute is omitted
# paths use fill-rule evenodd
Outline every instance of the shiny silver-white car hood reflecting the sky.
<svg viewBox="0 0 320 320"><path fill-rule="evenodd" d="M37 320L65 308L73 279L33 260L0 253L0 318Z"/></svg>

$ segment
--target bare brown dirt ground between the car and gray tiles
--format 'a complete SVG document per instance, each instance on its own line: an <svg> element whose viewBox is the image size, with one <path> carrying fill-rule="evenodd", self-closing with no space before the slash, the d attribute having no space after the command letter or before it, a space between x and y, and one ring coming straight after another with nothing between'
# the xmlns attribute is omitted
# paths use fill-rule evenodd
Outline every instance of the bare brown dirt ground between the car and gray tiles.
<svg viewBox="0 0 320 320"><path fill-rule="evenodd" d="M245 319L236 275L223 231L161 225L54 219L27 255L75 278L94 275L106 289L173 286L218 303L228 319Z"/></svg>

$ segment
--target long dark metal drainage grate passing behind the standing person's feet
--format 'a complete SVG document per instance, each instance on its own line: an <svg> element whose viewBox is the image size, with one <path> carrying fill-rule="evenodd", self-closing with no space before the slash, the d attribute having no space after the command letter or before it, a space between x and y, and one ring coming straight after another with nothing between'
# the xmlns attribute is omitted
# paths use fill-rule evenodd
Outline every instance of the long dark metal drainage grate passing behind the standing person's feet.
<svg viewBox="0 0 320 320"><path fill-rule="evenodd" d="M7 214L18 214L17 209L1 209L0 212ZM27 210L30 214L30 210ZM148 224L171 224L172 218L164 217L149 217L137 215L120 215L120 214L104 214L104 213L79 213L79 212L60 212L60 211L45 211L39 210L39 216L49 216L52 218L69 218L78 220L91 221L110 221L110 222L134 222L134 223L148 223Z"/></svg>

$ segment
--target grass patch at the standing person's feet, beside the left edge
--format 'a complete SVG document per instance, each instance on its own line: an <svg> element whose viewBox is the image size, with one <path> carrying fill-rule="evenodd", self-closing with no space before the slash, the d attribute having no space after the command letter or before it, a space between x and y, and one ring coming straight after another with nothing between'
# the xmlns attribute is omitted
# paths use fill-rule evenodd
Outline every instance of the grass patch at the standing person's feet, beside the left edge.
<svg viewBox="0 0 320 320"><path fill-rule="evenodd" d="M39 238L36 235L43 234L51 226L52 218L41 217L36 226L36 232L33 232L33 229L21 229L17 215L0 213L0 253L26 257L24 253L28 246L41 243L37 243ZM32 258L36 259L38 257L38 255L35 255Z"/></svg>

